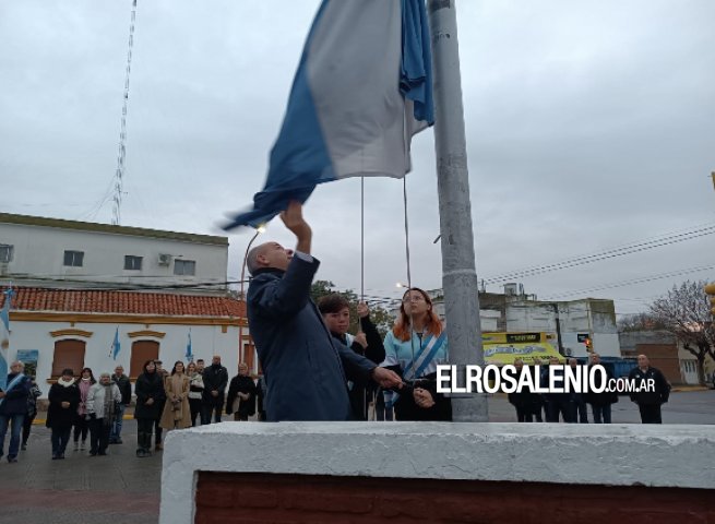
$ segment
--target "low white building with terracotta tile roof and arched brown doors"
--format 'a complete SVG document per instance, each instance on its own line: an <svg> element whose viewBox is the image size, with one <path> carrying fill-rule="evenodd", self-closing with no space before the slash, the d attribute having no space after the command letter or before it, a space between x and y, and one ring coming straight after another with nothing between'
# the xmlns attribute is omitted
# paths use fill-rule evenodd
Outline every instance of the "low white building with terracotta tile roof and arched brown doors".
<svg viewBox="0 0 715 524"><path fill-rule="evenodd" d="M88 367L97 377L121 364L133 381L146 360L158 358L170 370L176 360L189 360L189 337L194 360L210 364L221 355L233 376L241 325L243 305L227 297L19 287L7 355L10 361L35 365L45 396L64 368L79 374ZM120 350L115 359L116 335Z"/></svg>

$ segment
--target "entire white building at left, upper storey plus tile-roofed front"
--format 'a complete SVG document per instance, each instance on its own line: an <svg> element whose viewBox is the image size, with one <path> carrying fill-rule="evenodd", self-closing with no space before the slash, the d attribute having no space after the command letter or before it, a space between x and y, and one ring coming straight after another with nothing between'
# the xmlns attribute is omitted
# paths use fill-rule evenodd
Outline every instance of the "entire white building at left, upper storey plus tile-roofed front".
<svg viewBox="0 0 715 524"><path fill-rule="evenodd" d="M121 364L133 379L150 358L168 369L186 360L191 333L196 358L221 355L229 374L242 341L255 371L243 305L227 296L227 262L226 237L0 213L0 288L16 291L1 355L36 360L40 385L67 367Z"/></svg>

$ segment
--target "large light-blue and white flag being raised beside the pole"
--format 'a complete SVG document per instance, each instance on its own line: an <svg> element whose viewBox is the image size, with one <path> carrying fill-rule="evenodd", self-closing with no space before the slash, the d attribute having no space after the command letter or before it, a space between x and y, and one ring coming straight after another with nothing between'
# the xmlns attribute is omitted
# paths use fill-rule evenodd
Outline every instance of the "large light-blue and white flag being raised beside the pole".
<svg viewBox="0 0 715 524"><path fill-rule="evenodd" d="M269 222L318 183L402 178L434 121L424 0L323 0L308 35L263 191L225 229Z"/></svg>

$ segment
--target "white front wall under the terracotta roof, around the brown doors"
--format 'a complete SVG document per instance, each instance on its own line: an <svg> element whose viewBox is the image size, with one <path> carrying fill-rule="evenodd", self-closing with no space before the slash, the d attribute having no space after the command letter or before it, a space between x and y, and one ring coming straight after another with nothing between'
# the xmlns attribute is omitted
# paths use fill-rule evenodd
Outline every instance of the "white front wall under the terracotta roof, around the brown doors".
<svg viewBox="0 0 715 524"><path fill-rule="evenodd" d="M102 324L76 322L72 329L93 332L92 337L60 336L53 338L50 332L70 329L68 322L23 322L12 321L10 324L11 337L9 357L14 359L20 349L38 349L37 383L43 390L43 397L47 397L49 384L47 379L52 371L55 343L67 338L76 338L86 342L84 366L92 368L95 377L102 371L114 371L117 365L122 365L129 373L131 362L132 342L138 340L156 341L159 343L159 358L166 369L171 369L176 360L186 362L188 342L188 325L151 324L150 330L166 333L164 338L139 337L130 338L127 333L146 330L146 324ZM119 342L121 350L114 360L109 356L115 331L119 327ZM228 370L229 377L238 372L238 327L228 326L222 333L221 325L191 325L191 347L194 360L203 358L206 365L211 364L213 355L221 355L222 364ZM74 370L79 373L79 369Z"/></svg>

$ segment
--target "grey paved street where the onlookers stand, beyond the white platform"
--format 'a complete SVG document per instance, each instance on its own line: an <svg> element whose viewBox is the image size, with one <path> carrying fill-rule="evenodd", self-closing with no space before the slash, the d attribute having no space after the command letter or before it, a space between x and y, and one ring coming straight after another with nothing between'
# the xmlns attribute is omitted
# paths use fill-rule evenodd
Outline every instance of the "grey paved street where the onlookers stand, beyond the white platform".
<svg viewBox="0 0 715 524"><path fill-rule="evenodd" d="M503 396L490 398L489 409L492 421L515 421ZM666 424L715 424L715 391L672 393L663 418ZM636 406L621 397L613 421L639 420ZM109 456L91 457L70 444L67 460L51 461L49 430L35 426L20 462L0 463L0 523L157 522L162 453L136 458L135 432L134 421L126 420L124 444L109 446Z"/></svg>

